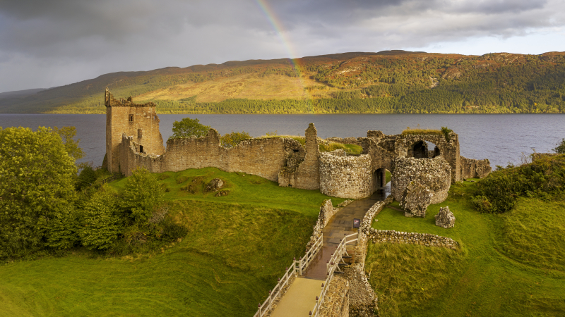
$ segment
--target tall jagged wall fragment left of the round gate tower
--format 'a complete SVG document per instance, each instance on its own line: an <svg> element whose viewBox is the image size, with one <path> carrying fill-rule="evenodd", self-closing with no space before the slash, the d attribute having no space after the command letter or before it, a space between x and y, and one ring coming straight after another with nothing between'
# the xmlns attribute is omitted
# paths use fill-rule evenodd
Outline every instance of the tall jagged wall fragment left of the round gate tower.
<svg viewBox="0 0 565 317"><path fill-rule="evenodd" d="M320 150L318 132L314 123L310 123L304 132L306 144L304 156L291 157L283 164L278 174L280 186L297 187L302 189L320 188Z"/></svg>

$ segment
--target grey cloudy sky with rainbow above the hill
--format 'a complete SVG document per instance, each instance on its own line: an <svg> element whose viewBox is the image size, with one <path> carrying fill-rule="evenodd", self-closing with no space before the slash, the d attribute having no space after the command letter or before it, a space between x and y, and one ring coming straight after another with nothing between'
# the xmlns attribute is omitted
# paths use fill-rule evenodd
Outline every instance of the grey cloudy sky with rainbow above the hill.
<svg viewBox="0 0 565 317"><path fill-rule="evenodd" d="M0 92L123 70L387 49L565 51L565 1L0 0Z"/></svg>

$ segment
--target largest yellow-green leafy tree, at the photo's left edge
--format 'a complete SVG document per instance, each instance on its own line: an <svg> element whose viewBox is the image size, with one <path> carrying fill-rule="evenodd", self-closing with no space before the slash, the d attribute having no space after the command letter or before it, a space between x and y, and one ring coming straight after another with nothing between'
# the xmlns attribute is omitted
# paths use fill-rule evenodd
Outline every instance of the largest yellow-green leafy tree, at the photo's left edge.
<svg viewBox="0 0 565 317"><path fill-rule="evenodd" d="M50 128L0 128L0 258L43 247L49 220L74 197L76 166Z"/></svg>

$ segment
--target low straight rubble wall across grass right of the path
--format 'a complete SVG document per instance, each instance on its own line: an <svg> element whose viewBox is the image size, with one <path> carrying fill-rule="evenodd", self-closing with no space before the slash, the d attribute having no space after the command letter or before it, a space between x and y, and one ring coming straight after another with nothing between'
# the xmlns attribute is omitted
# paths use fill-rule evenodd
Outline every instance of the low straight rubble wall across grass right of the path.
<svg viewBox="0 0 565 317"><path fill-rule="evenodd" d="M429 233L399 232L395 230L376 230L369 228L367 238L373 243L420 244L426 247L459 249L458 242L453 241L453 239L442 237L441 235L431 235Z"/></svg>

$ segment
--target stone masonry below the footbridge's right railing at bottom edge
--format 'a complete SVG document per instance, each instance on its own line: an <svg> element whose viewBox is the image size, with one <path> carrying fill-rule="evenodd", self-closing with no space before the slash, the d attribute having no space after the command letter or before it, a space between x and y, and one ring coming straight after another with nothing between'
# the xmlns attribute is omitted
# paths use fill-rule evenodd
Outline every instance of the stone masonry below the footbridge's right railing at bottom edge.
<svg viewBox="0 0 565 317"><path fill-rule="evenodd" d="M326 297L320 308L318 316L321 317L349 317L350 283L346 278L336 275L331 279Z"/></svg>

